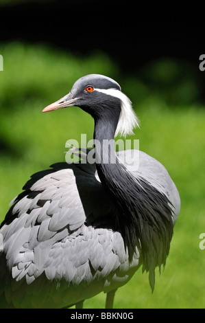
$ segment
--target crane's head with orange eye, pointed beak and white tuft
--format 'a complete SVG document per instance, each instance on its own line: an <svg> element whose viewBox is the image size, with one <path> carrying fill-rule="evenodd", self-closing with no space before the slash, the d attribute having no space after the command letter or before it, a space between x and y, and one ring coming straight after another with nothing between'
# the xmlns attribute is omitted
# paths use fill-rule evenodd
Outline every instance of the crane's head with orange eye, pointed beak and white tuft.
<svg viewBox="0 0 205 323"><path fill-rule="evenodd" d="M95 120L117 118L115 135L133 134L133 129L138 126L131 101L121 92L119 84L107 76L89 74L79 78L66 96L50 104L43 112L71 106L80 107Z"/></svg>

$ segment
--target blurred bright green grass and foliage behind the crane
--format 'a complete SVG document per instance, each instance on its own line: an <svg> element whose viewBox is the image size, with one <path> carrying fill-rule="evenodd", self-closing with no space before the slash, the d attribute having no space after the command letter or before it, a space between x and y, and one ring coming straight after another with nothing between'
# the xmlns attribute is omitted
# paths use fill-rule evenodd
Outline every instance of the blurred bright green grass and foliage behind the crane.
<svg viewBox="0 0 205 323"><path fill-rule="evenodd" d="M140 149L169 171L181 197L165 271L156 270L152 294L139 269L116 294L115 308L204 308L205 250L205 109L200 100L198 69L172 58L143 66L136 76L121 74L103 52L77 57L45 45L1 43L0 71L0 220L10 201L32 173L64 161L65 143L93 137L93 120L79 108L41 113L69 92L86 74L110 76L130 97L141 122L134 137ZM86 300L85 308L104 308L104 293Z"/></svg>

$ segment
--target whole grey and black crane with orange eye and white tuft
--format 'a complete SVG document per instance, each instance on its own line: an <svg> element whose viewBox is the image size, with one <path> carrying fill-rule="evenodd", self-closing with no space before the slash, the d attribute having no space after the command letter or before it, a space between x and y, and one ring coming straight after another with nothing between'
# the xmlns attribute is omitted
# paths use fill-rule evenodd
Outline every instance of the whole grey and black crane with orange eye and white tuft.
<svg viewBox="0 0 205 323"><path fill-rule="evenodd" d="M95 163L53 164L11 202L0 230L1 308L80 308L101 291L112 308L141 265L152 290L165 266L180 197L159 161L115 152L114 136L138 125L130 100L111 78L90 74L43 112L73 105L95 120Z"/></svg>

